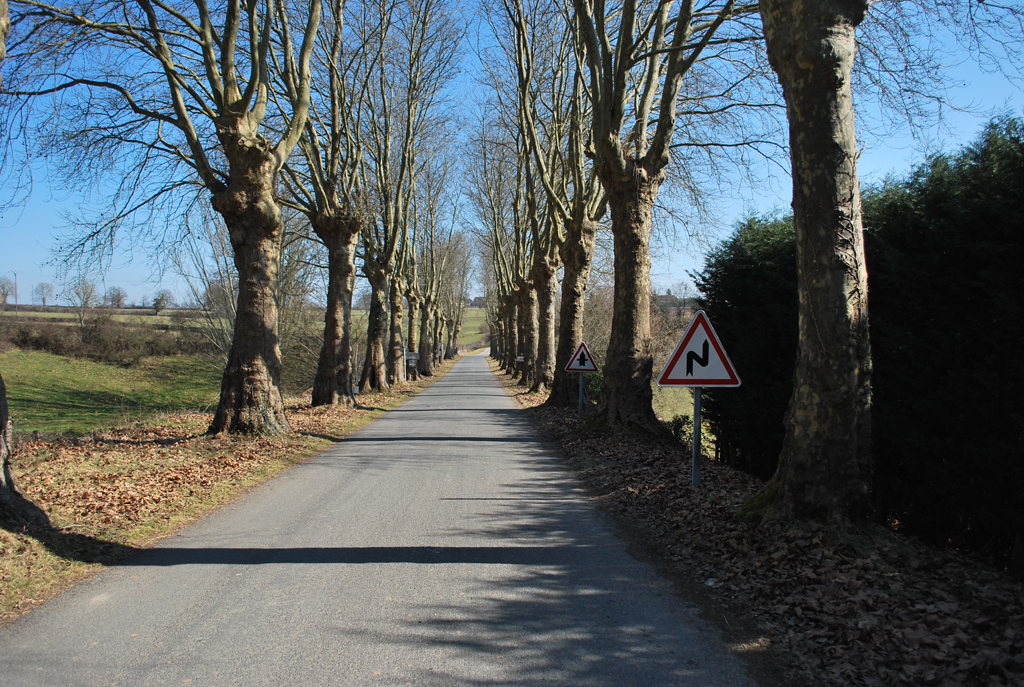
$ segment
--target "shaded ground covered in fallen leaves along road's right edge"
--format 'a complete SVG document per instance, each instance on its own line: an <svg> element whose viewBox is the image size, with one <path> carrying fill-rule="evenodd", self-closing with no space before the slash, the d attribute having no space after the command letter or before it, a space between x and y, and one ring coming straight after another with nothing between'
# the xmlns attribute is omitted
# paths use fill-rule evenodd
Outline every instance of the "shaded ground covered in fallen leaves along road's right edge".
<svg viewBox="0 0 1024 687"><path fill-rule="evenodd" d="M524 405L543 401L500 377ZM574 411L528 415L638 544L702 590L709 617L757 630L740 649L777 655L794 679L1024 685L1024 586L1001 572L881 526L754 528L734 517L754 477L706 461L693 487L678 444L594 435Z"/></svg>

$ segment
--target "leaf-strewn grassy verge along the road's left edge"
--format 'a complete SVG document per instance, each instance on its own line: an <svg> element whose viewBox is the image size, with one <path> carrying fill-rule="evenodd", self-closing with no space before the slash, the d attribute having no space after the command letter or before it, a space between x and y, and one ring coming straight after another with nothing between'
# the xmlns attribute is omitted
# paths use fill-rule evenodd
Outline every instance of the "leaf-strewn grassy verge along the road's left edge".
<svg viewBox="0 0 1024 687"><path fill-rule="evenodd" d="M291 399L293 432L281 437L206 436L209 414L179 412L88 437L22 441L12 459L16 483L51 525L0 521L0 625L315 456L451 366L360 394L355 409Z"/></svg>

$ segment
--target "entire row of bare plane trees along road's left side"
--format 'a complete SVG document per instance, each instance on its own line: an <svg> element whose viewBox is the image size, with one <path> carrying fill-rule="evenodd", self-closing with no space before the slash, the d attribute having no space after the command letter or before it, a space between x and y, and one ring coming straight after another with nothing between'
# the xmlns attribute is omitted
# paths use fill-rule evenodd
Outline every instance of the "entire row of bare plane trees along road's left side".
<svg viewBox="0 0 1024 687"><path fill-rule="evenodd" d="M357 258L372 290L362 387L401 381L406 347L431 374L469 280L444 169L453 121L438 109L465 33L450 6L18 0L10 11L2 106L23 147L6 153L59 162L70 187L113 186L74 218L61 254L147 245L200 281L215 274L204 296L227 295L211 432L288 430L279 310L295 242L322 246L308 255L328 275L314 404L353 401Z"/></svg>

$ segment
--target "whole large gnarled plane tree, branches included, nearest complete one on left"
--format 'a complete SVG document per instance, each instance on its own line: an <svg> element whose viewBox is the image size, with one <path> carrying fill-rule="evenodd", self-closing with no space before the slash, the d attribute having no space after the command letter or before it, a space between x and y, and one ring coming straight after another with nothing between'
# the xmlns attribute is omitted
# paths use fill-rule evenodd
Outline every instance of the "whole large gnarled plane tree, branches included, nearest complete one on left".
<svg viewBox="0 0 1024 687"><path fill-rule="evenodd" d="M283 230L275 186L306 122L321 3L303 6L293 38L287 1L11 3L18 43L8 59L18 78L8 87L51 96L41 152L61 161L72 184L122 175L114 209L82 225L68 250L110 250L125 224L144 230L160 202L169 226L197 186L224 219L239 300L211 433L289 429L274 302ZM296 66L294 88L276 96L287 102L280 118L267 110L271 61Z"/></svg>

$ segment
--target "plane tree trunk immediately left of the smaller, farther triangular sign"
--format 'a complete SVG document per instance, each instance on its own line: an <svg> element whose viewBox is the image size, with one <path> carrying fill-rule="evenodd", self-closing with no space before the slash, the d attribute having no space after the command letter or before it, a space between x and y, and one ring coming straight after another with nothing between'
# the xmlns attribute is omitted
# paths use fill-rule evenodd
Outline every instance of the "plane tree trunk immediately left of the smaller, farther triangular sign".
<svg viewBox="0 0 1024 687"><path fill-rule="evenodd" d="M579 402L580 373L565 372L569 357L583 341L583 313L587 302L587 283L594 259L597 223L573 218L565 226L565 242L559 249L562 264L562 303L558 311L558 348L555 350L555 376L546 405L575 407Z"/></svg>

